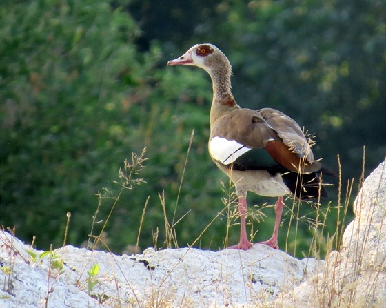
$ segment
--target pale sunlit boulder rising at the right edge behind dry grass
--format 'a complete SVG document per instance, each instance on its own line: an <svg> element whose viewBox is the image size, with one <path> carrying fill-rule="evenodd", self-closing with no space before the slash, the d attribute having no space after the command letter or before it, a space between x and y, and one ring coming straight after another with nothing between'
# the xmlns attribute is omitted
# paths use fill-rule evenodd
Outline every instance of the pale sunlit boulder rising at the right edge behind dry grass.
<svg viewBox="0 0 386 308"><path fill-rule="evenodd" d="M386 307L386 164L363 183L354 201L355 219L340 251L325 269L276 300L275 307Z"/></svg>

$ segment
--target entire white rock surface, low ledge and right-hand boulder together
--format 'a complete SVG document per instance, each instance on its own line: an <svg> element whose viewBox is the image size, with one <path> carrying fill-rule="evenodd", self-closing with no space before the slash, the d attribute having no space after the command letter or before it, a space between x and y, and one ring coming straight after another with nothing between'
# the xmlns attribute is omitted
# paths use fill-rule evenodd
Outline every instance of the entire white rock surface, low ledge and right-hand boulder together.
<svg viewBox="0 0 386 308"><path fill-rule="evenodd" d="M341 251L326 263L265 245L132 256L66 246L39 258L43 251L0 231L0 307L385 307L385 169L365 181ZM88 292L94 264L97 283Z"/></svg>

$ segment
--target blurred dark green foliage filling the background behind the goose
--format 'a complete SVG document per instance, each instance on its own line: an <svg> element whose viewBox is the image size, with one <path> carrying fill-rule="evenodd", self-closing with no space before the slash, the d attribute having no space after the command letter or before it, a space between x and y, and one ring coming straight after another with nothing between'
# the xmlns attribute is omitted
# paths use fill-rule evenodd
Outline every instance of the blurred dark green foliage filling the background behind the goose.
<svg viewBox="0 0 386 308"><path fill-rule="evenodd" d="M230 58L240 105L292 116L316 135L316 156L334 169L339 154L343 183L359 178L365 145L367 175L386 153L385 20L386 4L376 0L6 1L0 7L1 225L15 225L27 242L36 235L37 247L48 249L61 245L71 212L69 243L81 245L96 192L117 189L112 180L122 161L147 147L141 174L147 184L123 195L106 239L116 252L135 244L150 196L140 245L152 246L157 228L162 242L158 193L165 191L172 216L194 130L176 209L177 218L191 210L176 231L180 246L192 243L223 208L219 179L225 181L207 154L210 79L199 69L165 65L196 43L214 43ZM329 191L334 205L336 187ZM103 201L96 220L110 208ZM255 241L270 236L270 211L256 224ZM197 246L223 247L224 220ZM334 227L327 226L330 234ZM230 241L237 238L235 226ZM301 223L298 254L311 238Z"/></svg>

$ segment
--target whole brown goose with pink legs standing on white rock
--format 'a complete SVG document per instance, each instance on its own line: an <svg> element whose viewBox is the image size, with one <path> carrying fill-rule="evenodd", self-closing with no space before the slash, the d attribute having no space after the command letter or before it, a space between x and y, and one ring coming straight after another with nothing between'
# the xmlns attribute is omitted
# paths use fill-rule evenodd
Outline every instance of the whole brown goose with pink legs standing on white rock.
<svg viewBox="0 0 386 308"><path fill-rule="evenodd" d="M210 110L209 153L236 187L241 220L240 242L230 248L247 250L245 218L247 191L261 196L278 196L272 237L262 244L278 249L278 229L283 212L283 196L298 199L327 196L320 174L332 170L314 159L311 142L301 127L278 110L241 108L231 92L232 68L216 46L194 45L168 65L194 65L203 68L212 79L213 101Z"/></svg>

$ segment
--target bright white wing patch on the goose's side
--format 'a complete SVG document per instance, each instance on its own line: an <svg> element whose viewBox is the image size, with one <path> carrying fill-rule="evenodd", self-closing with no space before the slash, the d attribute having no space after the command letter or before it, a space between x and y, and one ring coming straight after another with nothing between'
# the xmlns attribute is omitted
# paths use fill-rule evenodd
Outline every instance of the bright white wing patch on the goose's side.
<svg viewBox="0 0 386 308"><path fill-rule="evenodd" d="M234 140L227 140L221 137L214 137L209 143L210 156L224 165L229 165L236 161L238 157L251 150L241 143Z"/></svg>

